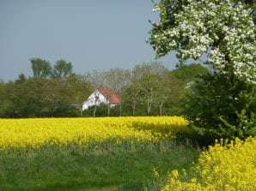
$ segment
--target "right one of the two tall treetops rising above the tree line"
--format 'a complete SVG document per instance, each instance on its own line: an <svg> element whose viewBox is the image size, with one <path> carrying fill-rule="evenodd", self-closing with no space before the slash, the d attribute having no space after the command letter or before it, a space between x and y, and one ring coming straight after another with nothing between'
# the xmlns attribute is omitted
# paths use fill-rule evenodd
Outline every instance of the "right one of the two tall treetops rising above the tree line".
<svg viewBox="0 0 256 191"><path fill-rule="evenodd" d="M67 78L72 72L73 66L71 63L67 63L64 60L58 60L53 66L52 77L53 78Z"/></svg>

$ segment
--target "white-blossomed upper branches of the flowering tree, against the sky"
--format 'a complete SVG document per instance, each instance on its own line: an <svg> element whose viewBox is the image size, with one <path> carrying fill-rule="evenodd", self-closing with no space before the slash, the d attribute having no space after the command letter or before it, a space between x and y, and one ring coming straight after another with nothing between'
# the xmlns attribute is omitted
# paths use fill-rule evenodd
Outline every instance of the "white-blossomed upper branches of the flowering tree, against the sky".
<svg viewBox="0 0 256 191"><path fill-rule="evenodd" d="M156 57L173 50L181 60L207 54L216 71L256 84L254 9L235 0L162 0L149 44Z"/></svg>

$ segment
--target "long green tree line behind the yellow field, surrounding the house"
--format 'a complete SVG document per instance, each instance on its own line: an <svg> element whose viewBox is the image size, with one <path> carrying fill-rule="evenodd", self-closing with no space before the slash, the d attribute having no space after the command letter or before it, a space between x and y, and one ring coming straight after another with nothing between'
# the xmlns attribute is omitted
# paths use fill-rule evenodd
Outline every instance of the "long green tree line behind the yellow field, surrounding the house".
<svg viewBox="0 0 256 191"><path fill-rule="evenodd" d="M64 60L54 65L30 60L33 76L0 82L0 117L162 116L182 115L186 93L198 75L209 69L182 64L169 70L162 63L137 64L133 69L94 70L77 75ZM119 96L115 107L101 104L82 110L94 89L105 87Z"/></svg>

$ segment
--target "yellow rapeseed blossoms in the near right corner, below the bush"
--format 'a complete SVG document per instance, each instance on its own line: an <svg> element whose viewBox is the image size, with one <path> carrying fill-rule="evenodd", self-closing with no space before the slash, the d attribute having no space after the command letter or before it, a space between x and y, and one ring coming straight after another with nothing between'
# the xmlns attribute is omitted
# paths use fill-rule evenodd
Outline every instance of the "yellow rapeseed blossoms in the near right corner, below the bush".
<svg viewBox="0 0 256 191"><path fill-rule="evenodd" d="M173 170L162 191L256 190L256 138L216 141L201 152L191 172ZM189 175L190 174L190 175Z"/></svg>

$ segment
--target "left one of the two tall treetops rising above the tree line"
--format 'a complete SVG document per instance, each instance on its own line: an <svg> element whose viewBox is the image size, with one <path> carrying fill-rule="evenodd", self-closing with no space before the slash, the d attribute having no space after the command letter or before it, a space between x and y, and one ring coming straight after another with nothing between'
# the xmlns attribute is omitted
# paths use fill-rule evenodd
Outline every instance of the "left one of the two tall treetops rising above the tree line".
<svg viewBox="0 0 256 191"><path fill-rule="evenodd" d="M47 78L52 75L51 63L40 58L30 60L34 78Z"/></svg>

